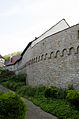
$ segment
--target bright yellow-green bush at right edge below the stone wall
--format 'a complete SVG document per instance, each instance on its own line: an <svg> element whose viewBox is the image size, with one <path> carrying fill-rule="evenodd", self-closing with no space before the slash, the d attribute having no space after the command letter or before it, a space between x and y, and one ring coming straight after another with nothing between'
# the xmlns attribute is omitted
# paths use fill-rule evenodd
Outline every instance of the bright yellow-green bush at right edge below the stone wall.
<svg viewBox="0 0 79 119"><path fill-rule="evenodd" d="M79 107L79 92L78 91L68 90L66 98L76 107Z"/></svg>

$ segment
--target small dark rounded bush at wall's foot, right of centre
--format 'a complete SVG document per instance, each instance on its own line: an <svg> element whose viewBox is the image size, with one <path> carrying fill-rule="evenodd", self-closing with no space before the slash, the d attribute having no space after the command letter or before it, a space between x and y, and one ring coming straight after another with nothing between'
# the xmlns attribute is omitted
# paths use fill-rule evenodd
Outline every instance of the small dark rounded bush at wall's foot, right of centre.
<svg viewBox="0 0 79 119"><path fill-rule="evenodd" d="M57 96L57 88L56 87L49 87L45 89L45 97L53 97L55 98Z"/></svg>

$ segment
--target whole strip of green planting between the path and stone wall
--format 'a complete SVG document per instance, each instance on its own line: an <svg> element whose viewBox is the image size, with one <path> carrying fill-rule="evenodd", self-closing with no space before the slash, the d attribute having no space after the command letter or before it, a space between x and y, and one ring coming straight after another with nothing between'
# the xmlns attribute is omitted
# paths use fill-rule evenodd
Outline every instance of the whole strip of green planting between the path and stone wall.
<svg viewBox="0 0 79 119"><path fill-rule="evenodd" d="M79 93L76 90L71 90L73 89L72 85L69 85L67 89L46 88L42 85L27 86L23 74L9 76L5 81L2 83L4 86L16 91L23 97L27 97L43 110L56 115L59 119L79 119L79 110L74 107L74 105L79 106ZM1 116L0 114L0 118L5 119Z"/></svg>

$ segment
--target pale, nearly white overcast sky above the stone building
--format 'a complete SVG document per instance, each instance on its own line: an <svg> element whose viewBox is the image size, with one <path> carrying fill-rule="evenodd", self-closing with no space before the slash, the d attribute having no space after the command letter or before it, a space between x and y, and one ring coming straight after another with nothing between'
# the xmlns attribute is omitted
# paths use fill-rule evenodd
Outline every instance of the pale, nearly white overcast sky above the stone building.
<svg viewBox="0 0 79 119"><path fill-rule="evenodd" d="M63 18L79 23L78 12L79 0L0 0L0 54L23 51Z"/></svg>

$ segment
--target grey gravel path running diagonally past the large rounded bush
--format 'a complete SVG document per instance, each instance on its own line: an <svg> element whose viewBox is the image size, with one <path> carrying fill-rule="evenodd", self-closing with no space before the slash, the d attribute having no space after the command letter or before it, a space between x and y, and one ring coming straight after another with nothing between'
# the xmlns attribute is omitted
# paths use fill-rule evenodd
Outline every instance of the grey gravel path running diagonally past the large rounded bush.
<svg viewBox="0 0 79 119"><path fill-rule="evenodd" d="M0 91L9 91L2 85L0 85ZM34 105L31 101L23 98L24 101L27 103L27 111L26 111L26 118L25 119L57 119L55 116L44 112L40 107Z"/></svg>

